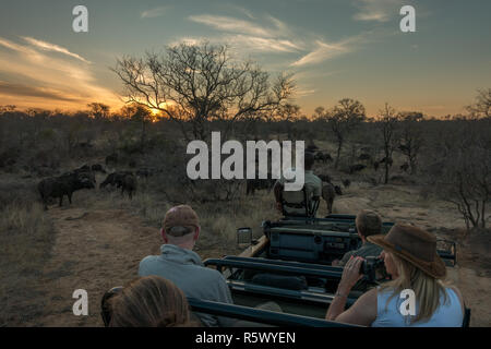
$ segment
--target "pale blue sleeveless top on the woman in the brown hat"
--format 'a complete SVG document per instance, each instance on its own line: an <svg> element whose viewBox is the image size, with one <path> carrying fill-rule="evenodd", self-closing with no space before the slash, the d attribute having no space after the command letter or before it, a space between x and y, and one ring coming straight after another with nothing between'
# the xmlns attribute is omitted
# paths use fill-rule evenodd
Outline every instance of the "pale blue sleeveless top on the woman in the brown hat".
<svg viewBox="0 0 491 349"><path fill-rule="evenodd" d="M460 299L452 288L445 288L447 299L440 296L440 305L430 318L409 323L410 315L404 316L399 306L405 299L394 296L387 304L387 299L393 294L391 290L376 289L376 318L372 327L462 327L464 314ZM416 301L416 314L418 314L418 301ZM416 317L416 316L415 316Z"/></svg>

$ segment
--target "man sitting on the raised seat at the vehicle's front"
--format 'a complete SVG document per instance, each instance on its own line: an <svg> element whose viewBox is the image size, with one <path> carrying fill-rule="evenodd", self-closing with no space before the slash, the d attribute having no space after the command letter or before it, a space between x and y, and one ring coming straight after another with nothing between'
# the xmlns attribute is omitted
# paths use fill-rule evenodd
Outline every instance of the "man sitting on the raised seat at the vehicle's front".
<svg viewBox="0 0 491 349"><path fill-rule="evenodd" d="M313 164L314 155L307 152L304 155L303 189L306 191L308 205L312 205L313 201L319 201L322 193L322 180L312 172ZM285 181L286 179L282 176L273 188L277 209L285 213L287 216L306 216L306 207L302 205L304 201L303 191L285 191ZM312 207L309 207L309 210L311 209Z"/></svg>

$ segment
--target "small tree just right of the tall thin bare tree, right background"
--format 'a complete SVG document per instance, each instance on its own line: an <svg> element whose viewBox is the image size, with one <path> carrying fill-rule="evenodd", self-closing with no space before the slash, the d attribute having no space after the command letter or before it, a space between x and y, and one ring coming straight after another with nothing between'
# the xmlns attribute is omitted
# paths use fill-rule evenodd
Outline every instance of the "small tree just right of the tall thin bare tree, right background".
<svg viewBox="0 0 491 349"><path fill-rule="evenodd" d="M423 115L421 112L408 112L400 113L400 118L402 142L399 144L399 151L407 157L411 174L415 174L418 166L418 155L423 145L420 124Z"/></svg>

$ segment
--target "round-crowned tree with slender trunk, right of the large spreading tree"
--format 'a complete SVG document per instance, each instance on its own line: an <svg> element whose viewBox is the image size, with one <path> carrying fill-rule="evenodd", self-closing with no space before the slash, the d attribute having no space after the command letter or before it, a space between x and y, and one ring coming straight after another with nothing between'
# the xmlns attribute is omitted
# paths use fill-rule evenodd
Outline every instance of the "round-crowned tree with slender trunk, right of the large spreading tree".
<svg viewBox="0 0 491 349"><path fill-rule="evenodd" d="M320 108L315 110L316 112L322 112ZM366 119L364 107L358 100L344 98L338 101L333 110L325 113L325 119L331 125L337 141L336 161L334 164L334 167L337 168L347 134Z"/></svg>

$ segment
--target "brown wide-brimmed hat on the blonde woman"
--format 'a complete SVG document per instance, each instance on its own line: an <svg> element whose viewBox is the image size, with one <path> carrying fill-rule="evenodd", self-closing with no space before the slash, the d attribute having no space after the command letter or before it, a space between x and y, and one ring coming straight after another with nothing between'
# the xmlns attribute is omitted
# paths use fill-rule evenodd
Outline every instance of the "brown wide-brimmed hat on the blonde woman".
<svg viewBox="0 0 491 349"><path fill-rule="evenodd" d="M436 238L420 228L396 224L387 234L367 238L436 279L446 276L445 263L436 253Z"/></svg>

